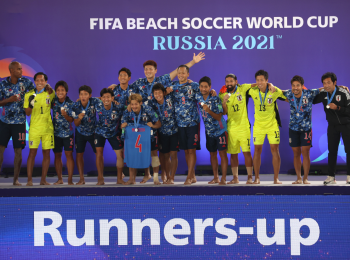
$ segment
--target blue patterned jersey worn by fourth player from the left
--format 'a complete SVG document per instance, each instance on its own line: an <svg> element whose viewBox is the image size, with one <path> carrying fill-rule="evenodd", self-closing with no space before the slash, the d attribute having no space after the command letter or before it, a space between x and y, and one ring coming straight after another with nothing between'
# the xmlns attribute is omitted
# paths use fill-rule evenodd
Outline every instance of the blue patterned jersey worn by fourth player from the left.
<svg viewBox="0 0 350 260"><path fill-rule="evenodd" d="M77 119L79 114L85 111L85 116L81 120L77 130L80 134L90 136L95 133L96 127L96 106L101 103L98 98L90 98L86 108L84 108L80 101L75 102L73 106L73 118Z"/></svg>

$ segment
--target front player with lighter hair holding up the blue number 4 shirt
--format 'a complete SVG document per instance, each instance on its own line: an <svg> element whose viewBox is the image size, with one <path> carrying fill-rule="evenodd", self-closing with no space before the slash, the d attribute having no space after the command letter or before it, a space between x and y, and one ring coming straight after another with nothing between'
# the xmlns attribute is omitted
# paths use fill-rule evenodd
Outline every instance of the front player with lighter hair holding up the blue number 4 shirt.
<svg viewBox="0 0 350 260"><path fill-rule="evenodd" d="M152 167L153 167L153 180L154 184L160 184L158 180L158 172L159 172L159 158L158 158L158 145L157 145L157 137L156 137L156 129L160 128L162 126L160 120L158 119L158 115L154 112L154 110L146 105L142 104L142 97L140 94L132 94L129 97L129 103L131 106L131 111L128 110L124 111L122 120L121 120L121 128L126 128L128 125L133 124L135 126L134 131L139 133L139 138L136 140L135 143L133 143L133 147L130 147L130 149L134 147L140 147L140 150L142 149L149 149L149 146L146 145L146 147L141 148L142 143L140 142L141 137L143 139L147 139L149 137L145 137L144 132L138 132L138 128L140 126L147 125L152 128L151 130L151 156L152 156ZM147 133L147 132L146 132ZM125 153L127 153L127 149L129 147L125 145ZM136 155L135 155L136 156ZM142 156L142 155L141 155ZM141 163L142 159L140 160ZM149 163L149 161L148 161ZM135 184L135 177L136 177L136 169L138 168L144 168L144 167L138 167L138 162L134 160L133 165L129 166L129 180L124 183L126 185L128 184ZM147 179L148 180L148 179ZM147 181L146 180L146 181ZM141 183L145 183L146 181L143 181Z"/></svg>

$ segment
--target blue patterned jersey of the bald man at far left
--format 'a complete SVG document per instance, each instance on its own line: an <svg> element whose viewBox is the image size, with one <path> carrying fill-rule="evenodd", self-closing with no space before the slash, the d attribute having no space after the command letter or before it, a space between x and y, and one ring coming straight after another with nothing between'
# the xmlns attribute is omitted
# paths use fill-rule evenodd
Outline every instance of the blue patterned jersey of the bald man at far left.
<svg viewBox="0 0 350 260"><path fill-rule="evenodd" d="M19 78L17 84L12 84L10 77L1 81L1 98L8 99L13 95L17 95L18 101L7 103L3 107L0 120L6 124L25 124L26 114L23 108L24 95L27 91L34 88L33 82L27 78Z"/></svg>

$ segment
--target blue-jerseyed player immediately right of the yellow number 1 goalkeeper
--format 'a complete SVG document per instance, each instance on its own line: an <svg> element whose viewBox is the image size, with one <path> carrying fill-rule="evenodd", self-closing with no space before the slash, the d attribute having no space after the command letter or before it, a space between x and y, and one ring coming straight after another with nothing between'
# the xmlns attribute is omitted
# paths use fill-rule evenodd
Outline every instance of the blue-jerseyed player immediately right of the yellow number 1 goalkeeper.
<svg viewBox="0 0 350 260"><path fill-rule="evenodd" d="M74 159L74 135L73 135L73 105L74 102L67 96L68 84L61 80L55 85L56 97L52 102L53 126L55 136L55 168L58 181L54 184L63 184L62 179L62 150L67 159L68 185L73 183Z"/></svg>

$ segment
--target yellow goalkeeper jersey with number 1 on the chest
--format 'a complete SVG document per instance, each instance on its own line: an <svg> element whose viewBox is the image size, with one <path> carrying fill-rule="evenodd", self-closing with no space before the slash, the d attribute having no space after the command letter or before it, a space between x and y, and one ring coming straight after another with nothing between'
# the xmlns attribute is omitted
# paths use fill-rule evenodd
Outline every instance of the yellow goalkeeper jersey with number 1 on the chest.
<svg viewBox="0 0 350 260"><path fill-rule="evenodd" d="M29 107L29 97L35 94L36 89L32 89L24 96L24 108ZM46 91L37 94L34 98L34 108L30 118L29 131L37 134L53 134L53 124L51 116L51 103L55 98L55 91L49 95Z"/></svg>

